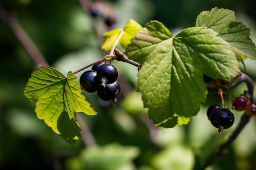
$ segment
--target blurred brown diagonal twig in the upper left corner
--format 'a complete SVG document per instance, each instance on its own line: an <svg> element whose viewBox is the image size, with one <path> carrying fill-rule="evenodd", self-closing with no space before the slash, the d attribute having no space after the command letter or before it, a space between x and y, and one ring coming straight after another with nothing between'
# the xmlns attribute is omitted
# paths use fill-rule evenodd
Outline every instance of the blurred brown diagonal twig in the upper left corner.
<svg viewBox="0 0 256 170"><path fill-rule="evenodd" d="M0 19L10 27L13 33L16 35L20 43L24 46L27 50L31 58L36 63L37 68L41 66L48 66L47 61L37 49L35 44L29 38L27 33L22 29L16 18L11 16L1 5L0 5Z"/></svg>

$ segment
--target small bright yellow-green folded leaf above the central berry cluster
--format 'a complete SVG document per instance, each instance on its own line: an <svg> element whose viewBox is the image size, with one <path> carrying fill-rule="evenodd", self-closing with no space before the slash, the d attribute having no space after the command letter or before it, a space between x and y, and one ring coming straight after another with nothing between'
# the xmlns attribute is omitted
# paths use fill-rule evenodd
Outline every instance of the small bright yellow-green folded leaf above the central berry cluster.
<svg viewBox="0 0 256 170"><path fill-rule="evenodd" d="M141 30L142 27L135 21L129 20L124 26L124 29L114 29L103 34L104 42L101 49L104 51L110 51L118 40L119 35L121 35L120 40L117 44L126 49L127 45L130 44L130 40L136 35L137 31Z"/></svg>

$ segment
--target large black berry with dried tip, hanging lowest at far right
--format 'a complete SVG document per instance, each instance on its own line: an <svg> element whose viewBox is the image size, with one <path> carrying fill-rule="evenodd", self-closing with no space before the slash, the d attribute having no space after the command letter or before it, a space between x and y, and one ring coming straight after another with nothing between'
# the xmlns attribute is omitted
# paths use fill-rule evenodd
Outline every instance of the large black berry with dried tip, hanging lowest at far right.
<svg viewBox="0 0 256 170"><path fill-rule="evenodd" d="M234 114L226 108L216 108L211 113L210 121L220 132L223 129L230 128L234 124L235 117Z"/></svg>

